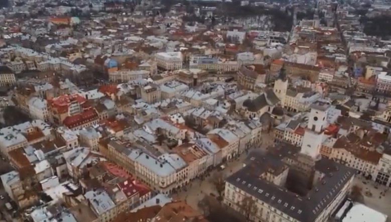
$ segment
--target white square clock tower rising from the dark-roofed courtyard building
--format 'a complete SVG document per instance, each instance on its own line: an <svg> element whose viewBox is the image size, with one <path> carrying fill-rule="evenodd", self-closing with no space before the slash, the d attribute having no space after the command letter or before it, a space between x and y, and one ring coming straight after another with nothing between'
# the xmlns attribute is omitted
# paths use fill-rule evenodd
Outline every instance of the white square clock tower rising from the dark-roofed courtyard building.
<svg viewBox="0 0 391 222"><path fill-rule="evenodd" d="M329 104L316 101L311 104L308 126L304 133L301 153L317 160L320 158L320 147L324 138L324 129L327 127L327 113Z"/></svg>

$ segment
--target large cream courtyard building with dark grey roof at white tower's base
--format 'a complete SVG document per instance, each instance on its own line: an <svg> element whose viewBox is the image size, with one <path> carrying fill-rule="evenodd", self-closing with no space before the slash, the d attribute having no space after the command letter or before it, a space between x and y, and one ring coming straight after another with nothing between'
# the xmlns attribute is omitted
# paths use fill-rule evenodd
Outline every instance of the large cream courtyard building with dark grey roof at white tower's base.
<svg viewBox="0 0 391 222"><path fill-rule="evenodd" d="M312 189L304 200L285 188L292 167L286 163L297 161L298 150L284 146L279 145L273 153L250 153L245 166L227 178L224 204L242 213L241 203L253 200L257 210L248 216L254 221L328 221L349 193L354 170L327 159L318 160L315 176L310 178Z"/></svg>

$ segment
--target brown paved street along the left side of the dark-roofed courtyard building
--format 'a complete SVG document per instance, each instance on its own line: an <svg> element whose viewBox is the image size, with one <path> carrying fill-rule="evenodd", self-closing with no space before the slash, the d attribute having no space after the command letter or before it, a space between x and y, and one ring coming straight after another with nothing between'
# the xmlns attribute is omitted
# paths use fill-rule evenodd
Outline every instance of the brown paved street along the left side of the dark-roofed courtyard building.
<svg viewBox="0 0 391 222"><path fill-rule="evenodd" d="M273 144L273 137L271 134L263 134L262 135L262 145L258 148L252 149L260 149L262 151L267 150L267 146ZM251 151L250 149L249 151ZM217 196L217 191L213 185L212 178L216 172L222 172L225 177L229 177L233 173L237 172L239 169L243 167L243 161L246 158L246 152L241 154L237 159L230 160L225 163L225 169L223 170L214 170L210 173L209 177L206 177L204 180L194 180L191 184L189 184L186 189L187 191L180 191L177 195L180 199L185 200L191 207L194 209L199 209L198 202L203 199L205 195L209 195L213 193L213 195ZM199 209L201 212L202 210Z"/></svg>

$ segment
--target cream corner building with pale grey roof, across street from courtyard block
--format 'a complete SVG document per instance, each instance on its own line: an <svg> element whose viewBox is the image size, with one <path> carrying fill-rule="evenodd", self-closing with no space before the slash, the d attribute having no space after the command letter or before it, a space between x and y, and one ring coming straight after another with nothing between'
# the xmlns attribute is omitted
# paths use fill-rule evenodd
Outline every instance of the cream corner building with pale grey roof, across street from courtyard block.
<svg viewBox="0 0 391 222"><path fill-rule="evenodd" d="M148 143L140 141L133 144L118 140L109 141L107 144L101 144L99 151L153 190L165 194L187 184L195 171L203 169L202 166L195 166L192 161L189 167L181 157L184 154L163 154ZM194 152L199 154L199 151ZM202 160L197 162L202 163Z"/></svg>

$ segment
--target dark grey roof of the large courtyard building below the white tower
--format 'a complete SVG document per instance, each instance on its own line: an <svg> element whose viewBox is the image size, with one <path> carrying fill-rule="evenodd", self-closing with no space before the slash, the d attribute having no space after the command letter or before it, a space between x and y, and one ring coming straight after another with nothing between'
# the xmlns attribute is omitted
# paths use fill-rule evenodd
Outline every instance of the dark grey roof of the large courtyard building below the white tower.
<svg viewBox="0 0 391 222"><path fill-rule="evenodd" d="M354 176L354 170L328 159L317 161L316 171L324 173L325 176L306 196L299 196L285 187L259 178L259 174L263 173L262 168L265 170L265 162L272 163L272 168L275 168L279 166L276 165L276 161L281 161L284 157L295 158L299 148L291 150L292 146L282 143L273 153L265 154L261 161L255 160L262 158L262 154L250 154L254 157L253 164L247 164L226 181L299 221L313 222Z"/></svg>

